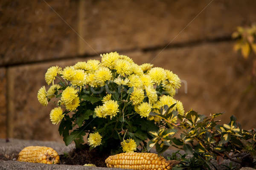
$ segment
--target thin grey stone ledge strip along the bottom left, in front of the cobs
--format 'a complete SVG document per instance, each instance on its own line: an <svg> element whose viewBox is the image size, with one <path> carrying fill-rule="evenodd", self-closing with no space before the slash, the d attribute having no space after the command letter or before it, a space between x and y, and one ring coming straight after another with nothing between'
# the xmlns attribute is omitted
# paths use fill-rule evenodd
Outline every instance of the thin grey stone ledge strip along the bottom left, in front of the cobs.
<svg viewBox="0 0 256 170"><path fill-rule="evenodd" d="M0 170L122 170L121 168L84 167L81 165L39 164L19 161L0 161Z"/></svg>

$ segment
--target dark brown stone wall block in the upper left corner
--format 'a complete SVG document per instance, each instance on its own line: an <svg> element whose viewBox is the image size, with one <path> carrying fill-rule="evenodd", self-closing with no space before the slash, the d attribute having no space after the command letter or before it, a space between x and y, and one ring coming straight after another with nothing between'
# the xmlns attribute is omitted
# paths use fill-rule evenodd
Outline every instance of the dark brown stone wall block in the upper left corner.
<svg viewBox="0 0 256 170"><path fill-rule="evenodd" d="M77 29L78 1L46 2ZM42 0L0 3L0 65L75 55L77 34Z"/></svg>

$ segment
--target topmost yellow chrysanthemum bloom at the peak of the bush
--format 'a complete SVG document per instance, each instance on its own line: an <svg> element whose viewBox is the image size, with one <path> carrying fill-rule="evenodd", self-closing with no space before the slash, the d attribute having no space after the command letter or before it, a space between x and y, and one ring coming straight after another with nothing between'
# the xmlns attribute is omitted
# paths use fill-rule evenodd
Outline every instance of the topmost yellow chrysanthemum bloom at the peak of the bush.
<svg viewBox="0 0 256 170"><path fill-rule="evenodd" d="M117 52L111 52L107 54L100 54L102 57L101 64L105 67L108 67L110 69L113 69L115 66L115 61L119 59L119 54Z"/></svg>

